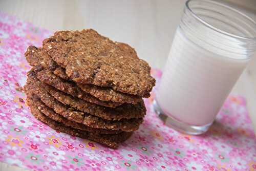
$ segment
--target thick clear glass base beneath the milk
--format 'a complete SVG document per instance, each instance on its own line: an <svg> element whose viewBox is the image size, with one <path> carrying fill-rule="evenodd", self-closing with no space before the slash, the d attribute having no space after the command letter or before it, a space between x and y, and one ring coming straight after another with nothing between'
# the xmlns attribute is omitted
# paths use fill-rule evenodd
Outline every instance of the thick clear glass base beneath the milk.
<svg viewBox="0 0 256 171"><path fill-rule="evenodd" d="M191 135L203 134L209 129L210 125L212 124L212 122L211 122L211 123L208 123L208 124L202 125L202 126L189 125L189 124L183 123L171 116L165 115L156 100L154 100L153 106L154 106L154 110L155 110L156 114L165 123L166 126L172 127L173 129L175 129L181 133L184 133L184 134L191 134Z"/></svg>

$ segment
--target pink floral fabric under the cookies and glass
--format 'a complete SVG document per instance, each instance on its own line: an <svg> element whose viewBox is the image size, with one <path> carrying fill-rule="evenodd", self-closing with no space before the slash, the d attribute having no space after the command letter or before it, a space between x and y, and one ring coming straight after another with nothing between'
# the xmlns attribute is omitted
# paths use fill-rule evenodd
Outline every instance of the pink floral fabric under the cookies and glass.
<svg viewBox="0 0 256 171"><path fill-rule="evenodd" d="M118 149L56 132L36 120L16 90L30 69L29 45L51 33L0 13L0 161L30 170L256 170L256 140L245 99L230 96L210 130L190 136L156 116L155 91L145 99L147 115ZM153 69L157 80L159 70Z"/></svg>

